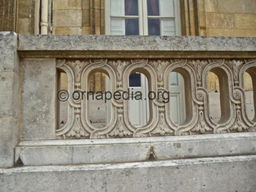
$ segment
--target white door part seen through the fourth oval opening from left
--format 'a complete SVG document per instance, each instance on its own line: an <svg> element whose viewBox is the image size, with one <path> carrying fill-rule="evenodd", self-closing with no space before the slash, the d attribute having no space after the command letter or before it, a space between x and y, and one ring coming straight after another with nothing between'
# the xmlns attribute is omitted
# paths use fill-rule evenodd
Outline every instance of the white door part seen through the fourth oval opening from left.
<svg viewBox="0 0 256 192"><path fill-rule="evenodd" d="M184 80L177 72L171 72L169 75L169 92L170 92L170 117L175 124L180 125L185 120L184 106Z"/></svg>

